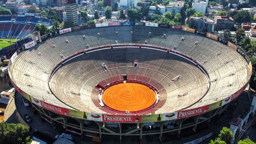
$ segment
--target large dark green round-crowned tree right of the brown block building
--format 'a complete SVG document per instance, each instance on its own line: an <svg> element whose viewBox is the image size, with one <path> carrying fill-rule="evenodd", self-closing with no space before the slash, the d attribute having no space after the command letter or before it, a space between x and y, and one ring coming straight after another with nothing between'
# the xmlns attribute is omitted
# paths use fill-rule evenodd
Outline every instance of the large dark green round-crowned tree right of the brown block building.
<svg viewBox="0 0 256 144"><path fill-rule="evenodd" d="M239 11L236 15L233 17L234 21L237 23L247 23L251 22L252 16L249 11Z"/></svg>

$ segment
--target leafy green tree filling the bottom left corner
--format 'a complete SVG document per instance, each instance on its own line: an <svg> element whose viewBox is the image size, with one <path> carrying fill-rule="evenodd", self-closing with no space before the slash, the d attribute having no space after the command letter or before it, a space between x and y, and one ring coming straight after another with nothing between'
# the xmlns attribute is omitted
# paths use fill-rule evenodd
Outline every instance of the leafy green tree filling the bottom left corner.
<svg viewBox="0 0 256 144"><path fill-rule="evenodd" d="M0 123L1 144L30 144L29 127L22 124Z"/></svg>

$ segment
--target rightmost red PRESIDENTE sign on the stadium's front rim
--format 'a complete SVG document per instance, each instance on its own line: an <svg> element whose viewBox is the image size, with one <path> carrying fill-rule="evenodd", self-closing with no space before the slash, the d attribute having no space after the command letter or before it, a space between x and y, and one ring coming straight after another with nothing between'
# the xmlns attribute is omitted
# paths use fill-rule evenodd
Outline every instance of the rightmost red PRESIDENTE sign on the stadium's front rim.
<svg viewBox="0 0 256 144"><path fill-rule="evenodd" d="M201 107L198 107L198 108L195 108L195 109L190 109L190 110L178 111L178 119L191 117L193 115L206 113L208 111L209 111L209 105L201 106Z"/></svg>

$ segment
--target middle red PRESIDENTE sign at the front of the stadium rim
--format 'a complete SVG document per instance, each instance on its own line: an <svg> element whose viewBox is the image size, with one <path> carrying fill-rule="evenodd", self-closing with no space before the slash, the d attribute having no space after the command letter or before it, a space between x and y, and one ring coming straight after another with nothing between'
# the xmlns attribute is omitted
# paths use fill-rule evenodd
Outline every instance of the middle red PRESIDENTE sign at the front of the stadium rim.
<svg viewBox="0 0 256 144"><path fill-rule="evenodd" d="M141 122L140 115L108 115L102 114L103 122Z"/></svg>

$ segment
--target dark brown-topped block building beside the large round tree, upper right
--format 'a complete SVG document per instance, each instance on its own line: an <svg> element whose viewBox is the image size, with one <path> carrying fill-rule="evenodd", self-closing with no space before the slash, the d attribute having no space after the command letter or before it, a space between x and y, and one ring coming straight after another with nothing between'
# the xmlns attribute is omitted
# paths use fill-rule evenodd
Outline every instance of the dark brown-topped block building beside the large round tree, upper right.
<svg viewBox="0 0 256 144"><path fill-rule="evenodd" d="M215 31L232 29L235 24L233 18L229 16L229 13L226 16L216 15L214 21L216 23Z"/></svg>

